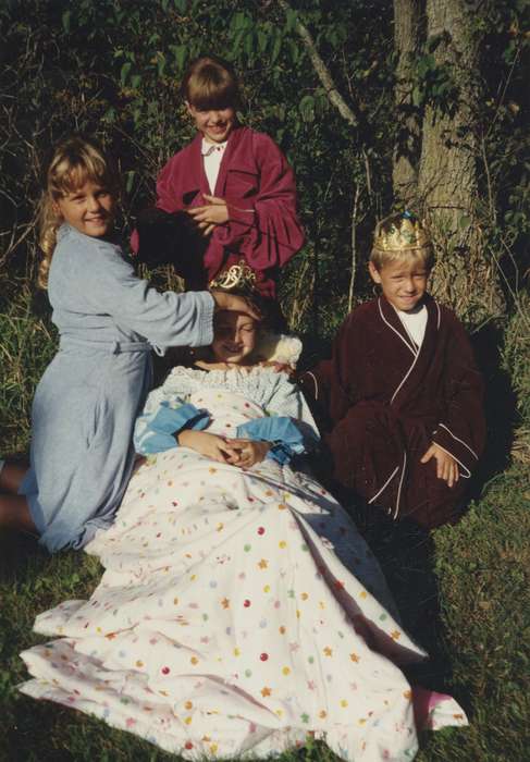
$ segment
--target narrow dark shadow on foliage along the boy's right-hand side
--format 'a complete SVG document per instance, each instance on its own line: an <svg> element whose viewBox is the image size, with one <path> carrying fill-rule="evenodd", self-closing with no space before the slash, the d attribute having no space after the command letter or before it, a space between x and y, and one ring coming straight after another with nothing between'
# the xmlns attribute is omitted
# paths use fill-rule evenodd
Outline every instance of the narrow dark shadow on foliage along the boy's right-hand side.
<svg viewBox="0 0 530 762"><path fill-rule="evenodd" d="M469 499L478 499L484 484L509 465L509 454L517 421L517 396L509 374L502 368L503 331L488 323L471 336L477 364L484 380L486 443L469 486Z"/></svg>

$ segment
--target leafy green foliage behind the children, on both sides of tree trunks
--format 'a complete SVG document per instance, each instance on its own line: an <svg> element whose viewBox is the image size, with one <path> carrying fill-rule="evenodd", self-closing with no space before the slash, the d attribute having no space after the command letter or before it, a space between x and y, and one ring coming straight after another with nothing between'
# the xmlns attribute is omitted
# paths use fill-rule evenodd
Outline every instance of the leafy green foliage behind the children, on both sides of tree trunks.
<svg viewBox="0 0 530 762"><path fill-rule="evenodd" d="M4 5L0 266L3 261L20 273L34 272L42 168L50 147L73 131L98 135L119 158L127 233L137 211L153 199L159 169L193 135L180 83L189 60L211 50L243 74L243 119L271 134L296 171L307 246L284 278L286 312L297 316L295 328L331 333L336 320L328 305L335 304L344 315L352 276L355 298L370 295L366 259L371 232L392 205L393 8L390 0L304 0L292 8L296 10L285 13L276 3L254 0L26 0ZM357 114L355 130L330 103L297 34L297 13ZM529 138L521 102L528 38L519 32L526 28L523 13L522 7L504 1L489 4L476 22L485 40L484 82L491 94L477 121L477 128L484 125L478 161L489 205L485 218L494 213L519 270L530 225ZM418 54L418 113L428 106L446 113L455 108L459 94L453 67L435 60L446 42L446 35L432 37ZM497 254L500 261L505 259ZM312 284L312 309L296 278L300 268Z"/></svg>

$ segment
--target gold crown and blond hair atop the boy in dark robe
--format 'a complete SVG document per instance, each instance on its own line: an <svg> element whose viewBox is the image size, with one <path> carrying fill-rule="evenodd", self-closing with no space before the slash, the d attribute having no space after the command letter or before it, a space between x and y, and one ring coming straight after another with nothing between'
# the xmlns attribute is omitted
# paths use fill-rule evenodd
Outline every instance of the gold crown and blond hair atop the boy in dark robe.
<svg viewBox="0 0 530 762"><path fill-rule="evenodd" d="M377 270L405 259L418 261L428 270L434 265L434 249L427 230L409 211L390 214L378 222L370 254Z"/></svg>

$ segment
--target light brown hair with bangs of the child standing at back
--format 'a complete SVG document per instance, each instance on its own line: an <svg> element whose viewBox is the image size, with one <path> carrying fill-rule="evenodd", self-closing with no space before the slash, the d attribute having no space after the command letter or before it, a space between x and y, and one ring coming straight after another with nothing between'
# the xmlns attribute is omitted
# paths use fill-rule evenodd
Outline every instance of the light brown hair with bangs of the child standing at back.
<svg viewBox="0 0 530 762"><path fill-rule="evenodd" d="M227 61L217 56L201 56L189 64L182 81L184 100L196 109L237 108L239 85Z"/></svg>

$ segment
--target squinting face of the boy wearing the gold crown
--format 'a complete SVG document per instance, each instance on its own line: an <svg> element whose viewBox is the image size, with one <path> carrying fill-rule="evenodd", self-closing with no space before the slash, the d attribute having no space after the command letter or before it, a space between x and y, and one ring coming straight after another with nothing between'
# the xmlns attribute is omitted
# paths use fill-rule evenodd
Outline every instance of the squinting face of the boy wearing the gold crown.
<svg viewBox="0 0 530 762"><path fill-rule="evenodd" d="M386 300L403 312L412 310L427 291L429 270L420 259L396 259L378 270L368 262L372 280L378 283Z"/></svg>

